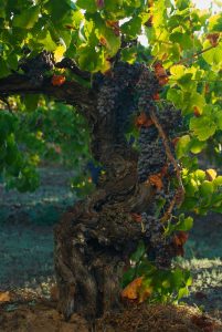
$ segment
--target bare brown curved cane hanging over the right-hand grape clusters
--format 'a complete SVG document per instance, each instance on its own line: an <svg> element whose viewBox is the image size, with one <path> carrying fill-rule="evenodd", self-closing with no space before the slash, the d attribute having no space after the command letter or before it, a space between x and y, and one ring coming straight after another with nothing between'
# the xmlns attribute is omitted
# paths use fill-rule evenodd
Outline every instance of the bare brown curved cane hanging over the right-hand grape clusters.
<svg viewBox="0 0 222 332"><path fill-rule="evenodd" d="M168 211L165 215L167 217L167 215L171 214L175 204L181 205L181 203L183 201L183 198L184 198L184 188L183 188L183 184L182 184L182 179L181 179L180 168L179 168L178 163L175 159L175 157L173 157L173 155L172 155L172 153L170 151L169 139L168 139L165 131L162 129L162 126L160 125L160 123L159 123L159 121L158 121L158 118L157 118L157 116L155 114L154 108L150 111L150 117L151 117L151 120L152 120L156 128L159 132L159 136L162 138L162 143L165 145L167 157L172 163L172 165L175 166L176 174L177 174L177 179L178 179L178 183L179 183L179 187L177 189L177 194L176 194L175 198L172 199L171 205L170 205ZM162 217L162 219L165 218L165 216Z"/></svg>

